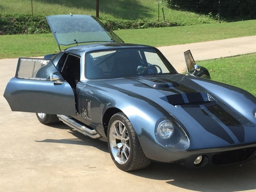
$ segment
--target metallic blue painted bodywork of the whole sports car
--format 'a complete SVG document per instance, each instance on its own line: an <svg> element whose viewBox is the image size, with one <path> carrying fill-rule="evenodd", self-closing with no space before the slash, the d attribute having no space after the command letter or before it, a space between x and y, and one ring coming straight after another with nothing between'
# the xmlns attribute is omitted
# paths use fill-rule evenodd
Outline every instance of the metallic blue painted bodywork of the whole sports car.
<svg viewBox="0 0 256 192"><path fill-rule="evenodd" d="M86 53L123 49L157 52L170 73L115 78L106 73L106 78L87 79ZM103 138L108 127L103 124L103 117L112 109L122 111L131 121L145 156L161 162L193 160L202 154L211 158L218 152L256 146L256 98L244 90L177 74L154 47L115 43L79 45L52 58L58 70L62 67L61 56L66 53L81 58L81 78L75 90L76 108L74 92L66 81L54 84L49 80L14 77L4 93L13 111L71 115ZM93 67L104 59L92 60ZM107 68L106 72L111 71ZM42 68L40 74L48 74L47 67ZM175 134L166 141L159 141L156 127L165 119L175 122ZM188 148L172 147L182 136L188 138Z"/></svg>

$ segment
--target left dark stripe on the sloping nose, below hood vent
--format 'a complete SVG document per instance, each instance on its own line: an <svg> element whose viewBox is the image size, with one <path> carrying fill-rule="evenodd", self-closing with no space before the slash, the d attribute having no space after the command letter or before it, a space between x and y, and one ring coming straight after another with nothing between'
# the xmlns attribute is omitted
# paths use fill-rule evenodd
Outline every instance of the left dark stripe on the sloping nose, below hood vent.
<svg viewBox="0 0 256 192"><path fill-rule="evenodd" d="M182 108L191 115L204 129L222 140L230 144L234 144L232 138L228 135L227 131L221 127L218 122L211 118L200 106L182 106Z"/></svg>

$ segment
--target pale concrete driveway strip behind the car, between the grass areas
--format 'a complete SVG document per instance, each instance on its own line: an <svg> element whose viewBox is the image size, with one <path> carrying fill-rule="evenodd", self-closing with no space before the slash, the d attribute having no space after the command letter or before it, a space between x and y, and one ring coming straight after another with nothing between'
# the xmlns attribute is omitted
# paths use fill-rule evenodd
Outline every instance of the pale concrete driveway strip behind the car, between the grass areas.
<svg viewBox="0 0 256 192"><path fill-rule="evenodd" d="M183 53L188 49L191 50L195 61L202 61L256 52L255 45L256 36L244 36L211 42L165 46L159 47L159 50L163 52L164 56L168 58L176 70L181 73L186 70Z"/></svg>

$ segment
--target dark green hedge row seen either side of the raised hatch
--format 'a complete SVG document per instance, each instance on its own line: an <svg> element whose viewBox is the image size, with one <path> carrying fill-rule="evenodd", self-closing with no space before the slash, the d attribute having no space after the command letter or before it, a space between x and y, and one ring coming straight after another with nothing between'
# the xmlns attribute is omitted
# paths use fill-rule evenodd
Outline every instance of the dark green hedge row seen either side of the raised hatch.
<svg viewBox="0 0 256 192"><path fill-rule="evenodd" d="M111 30L161 28L177 26L170 22L146 22L144 20L101 20ZM44 16L0 15L0 35L51 33Z"/></svg>

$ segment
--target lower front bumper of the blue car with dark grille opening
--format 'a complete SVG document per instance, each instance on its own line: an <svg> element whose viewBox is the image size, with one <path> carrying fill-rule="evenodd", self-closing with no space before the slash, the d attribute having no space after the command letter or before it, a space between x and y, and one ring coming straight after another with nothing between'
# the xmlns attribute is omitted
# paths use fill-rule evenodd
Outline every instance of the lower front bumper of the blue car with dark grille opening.
<svg viewBox="0 0 256 192"><path fill-rule="evenodd" d="M205 165L222 165L241 163L256 159L256 143L232 145L219 148L203 148L173 151L163 146L149 145L143 147L148 159L163 163L180 163L189 167L202 167ZM202 161L195 164L197 157L202 156Z"/></svg>

